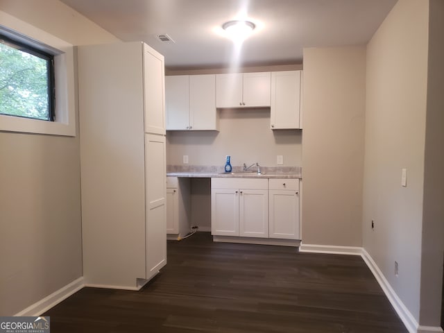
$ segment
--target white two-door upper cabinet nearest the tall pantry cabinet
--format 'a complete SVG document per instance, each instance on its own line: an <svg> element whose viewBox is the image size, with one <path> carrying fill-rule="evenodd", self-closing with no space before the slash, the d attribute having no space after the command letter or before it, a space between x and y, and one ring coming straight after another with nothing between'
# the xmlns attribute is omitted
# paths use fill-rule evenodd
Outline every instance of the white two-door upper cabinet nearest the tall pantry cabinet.
<svg viewBox="0 0 444 333"><path fill-rule="evenodd" d="M217 130L214 74L167 76L165 85L167 130Z"/></svg>

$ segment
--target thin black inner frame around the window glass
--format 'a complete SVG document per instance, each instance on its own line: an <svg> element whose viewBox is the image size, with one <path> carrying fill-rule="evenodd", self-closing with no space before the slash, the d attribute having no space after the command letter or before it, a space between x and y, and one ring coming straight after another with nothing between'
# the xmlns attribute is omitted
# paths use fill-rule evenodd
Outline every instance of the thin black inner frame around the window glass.
<svg viewBox="0 0 444 333"><path fill-rule="evenodd" d="M55 105L56 105L56 86L55 86L55 80L54 80L54 55L42 51L40 48L35 47L31 43L22 42L19 39L11 38L10 35L12 33L9 33L6 35L3 33L4 29L0 28L0 40L5 40L7 44L4 44L6 46L9 46L13 48L14 46L19 46L21 49L19 51L26 52L31 54L31 56L35 56L37 58L41 58L46 61L47 63L47 69L46 69L46 78L47 78L47 99L48 99L48 118L47 119L40 119L40 118L34 118L34 117L26 117L21 116L18 114L6 114L1 113L1 115L4 116L10 116L10 117L22 117L22 118L28 118L28 119L35 119L35 120L42 120L42 121L55 121L56 119L56 112L55 112ZM10 45L12 46L10 46ZM0 110L1 112L1 110Z"/></svg>

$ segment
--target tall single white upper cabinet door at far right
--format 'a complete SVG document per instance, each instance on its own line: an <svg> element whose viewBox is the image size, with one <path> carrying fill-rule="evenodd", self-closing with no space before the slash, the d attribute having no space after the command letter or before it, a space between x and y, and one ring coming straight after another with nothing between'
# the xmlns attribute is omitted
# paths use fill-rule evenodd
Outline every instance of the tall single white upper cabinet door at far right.
<svg viewBox="0 0 444 333"><path fill-rule="evenodd" d="M271 129L300 128L300 71L271 73Z"/></svg>

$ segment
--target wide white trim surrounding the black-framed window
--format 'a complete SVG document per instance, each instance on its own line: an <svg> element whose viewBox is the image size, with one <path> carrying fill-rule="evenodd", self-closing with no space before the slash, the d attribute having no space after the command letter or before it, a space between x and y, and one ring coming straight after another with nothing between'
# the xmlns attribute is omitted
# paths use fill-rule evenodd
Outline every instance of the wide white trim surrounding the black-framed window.
<svg viewBox="0 0 444 333"><path fill-rule="evenodd" d="M0 31L13 40L31 44L53 55L56 101L55 121L0 114L0 135L33 133L76 136L76 75L74 45L0 10Z"/></svg>

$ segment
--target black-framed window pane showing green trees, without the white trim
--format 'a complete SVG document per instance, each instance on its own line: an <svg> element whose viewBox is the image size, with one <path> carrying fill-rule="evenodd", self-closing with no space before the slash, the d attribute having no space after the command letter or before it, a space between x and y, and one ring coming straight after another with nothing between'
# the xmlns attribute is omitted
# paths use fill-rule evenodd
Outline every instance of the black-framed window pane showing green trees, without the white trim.
<svg viewBox="0 0 444 333"><path fill-rule="evenodd" d="M0 114L54 121L53 56L1 34Z"/></svg>

